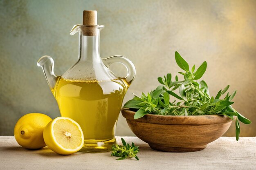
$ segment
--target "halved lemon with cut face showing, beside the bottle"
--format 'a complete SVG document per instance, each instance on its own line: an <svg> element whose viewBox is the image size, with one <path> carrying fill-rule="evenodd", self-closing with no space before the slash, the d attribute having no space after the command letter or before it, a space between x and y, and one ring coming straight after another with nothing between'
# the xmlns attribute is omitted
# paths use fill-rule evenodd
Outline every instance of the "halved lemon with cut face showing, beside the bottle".
<svg viewBox="0 0 256 170"><path fill-rule="evenodd" d="M57 117L43 131L45 144L54 152L70 155L83 147L83 131L76 121L68 117Z"/></svg>

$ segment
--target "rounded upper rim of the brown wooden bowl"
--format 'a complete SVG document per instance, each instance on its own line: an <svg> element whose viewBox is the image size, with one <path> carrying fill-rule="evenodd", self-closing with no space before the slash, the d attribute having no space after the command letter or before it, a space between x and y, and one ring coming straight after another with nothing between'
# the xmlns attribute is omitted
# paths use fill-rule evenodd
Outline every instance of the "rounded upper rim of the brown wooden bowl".
<svg viewBox="0 0 256 170"><path fill-rule="evenodd" d="M205 125L227 123L232 121L232 119L224 115L164 116L148 114L139 119L134 119L135 112L129 110L129 108L122 108L121 112L122 115L128 120L152 124Z"/></svg>

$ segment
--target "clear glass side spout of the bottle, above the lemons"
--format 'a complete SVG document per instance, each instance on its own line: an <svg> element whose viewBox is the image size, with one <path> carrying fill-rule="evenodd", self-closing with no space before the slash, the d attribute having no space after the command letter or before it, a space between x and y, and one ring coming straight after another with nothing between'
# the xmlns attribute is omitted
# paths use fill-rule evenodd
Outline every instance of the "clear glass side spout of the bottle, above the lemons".
<svg viewBox="0 0 256 170"><path fill-rule="evenodd" d="M54 74L54 61L52 57L47 55L41 57L37 62L37 66L43 68L47 83L52 90L57 82L57 76Z"/></svg>

